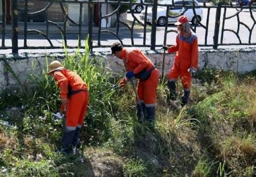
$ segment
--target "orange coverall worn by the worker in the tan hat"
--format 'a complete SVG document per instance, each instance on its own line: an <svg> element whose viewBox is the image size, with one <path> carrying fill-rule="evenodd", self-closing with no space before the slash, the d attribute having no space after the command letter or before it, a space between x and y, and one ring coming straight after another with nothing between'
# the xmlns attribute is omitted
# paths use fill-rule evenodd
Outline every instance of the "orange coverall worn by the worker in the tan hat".
<svg viewBox="0 0 256 177"><path fill-rule="evenodd" d="M67 98L65 129L81 128L86 114L89 93L86 83L77 73L68 69L55 71L54 78L61 89L61 98ZM64 106L61 105L61 110Z"/></svg>

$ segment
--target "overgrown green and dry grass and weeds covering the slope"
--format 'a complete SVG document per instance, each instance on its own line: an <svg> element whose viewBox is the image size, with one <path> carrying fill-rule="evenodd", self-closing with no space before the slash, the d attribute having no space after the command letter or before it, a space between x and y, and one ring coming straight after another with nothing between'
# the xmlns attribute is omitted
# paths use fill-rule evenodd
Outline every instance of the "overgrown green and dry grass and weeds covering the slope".
<svg viewBox="0 0 256 177"><path fill-rule="evenodd" d="M42 75L28 75L26 84L1 93L1 121L9 126L0 125L0 176L256 175L255 71L201 69L191 101L179 110L166 105L161 81L152 129L137 122L131 85L113 90L122 73L86 51L66 53L64 61L90 89L79 154L55 153L62 122L52 112L59 110L59 90L42 68Z"/></svg>

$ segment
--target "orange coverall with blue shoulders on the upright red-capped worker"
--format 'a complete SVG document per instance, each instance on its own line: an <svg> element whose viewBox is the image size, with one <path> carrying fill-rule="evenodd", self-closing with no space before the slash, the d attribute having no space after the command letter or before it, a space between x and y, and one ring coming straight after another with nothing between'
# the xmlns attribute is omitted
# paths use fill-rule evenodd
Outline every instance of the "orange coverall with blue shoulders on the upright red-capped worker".
<svg viewBox="0 0 256 177"><path fill-rule="evenodd" d="M176 45L168 47L168 52L177 52L174 58L174 65L167 75L168 80L173 79L176 81L181 76L184 90L190 90L192 77L187 69L191 67L197 69L198 67L197 36L193 32L187 38L180 34L177 35Z"/></svg>

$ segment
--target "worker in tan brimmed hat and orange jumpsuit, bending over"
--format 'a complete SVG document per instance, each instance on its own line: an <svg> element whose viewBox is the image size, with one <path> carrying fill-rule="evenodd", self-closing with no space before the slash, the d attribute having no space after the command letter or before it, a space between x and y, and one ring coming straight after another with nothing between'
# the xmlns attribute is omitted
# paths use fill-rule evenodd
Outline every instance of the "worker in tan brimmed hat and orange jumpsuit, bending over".
<svg viewBox="0 0 256 177"><path fill-rule="evenodd" d="M77 73L64 69L59 61L51 62L48 74L61 89L61 112L65 111L65 119L60 151L68 154L79 143L89 100L88 87Z"/></svg>

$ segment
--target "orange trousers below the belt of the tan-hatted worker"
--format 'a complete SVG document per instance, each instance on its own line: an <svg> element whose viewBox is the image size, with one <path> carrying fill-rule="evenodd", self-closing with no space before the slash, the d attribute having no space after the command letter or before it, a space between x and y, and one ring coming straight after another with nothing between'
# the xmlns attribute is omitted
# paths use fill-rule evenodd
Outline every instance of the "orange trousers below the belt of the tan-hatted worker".
<svg viewBox="0 0 256 177"><path fill-rule="evenodd" d="M67 130L72 131L76 127L82 127L88 105L88 97L88 92L79 92L68 98L65 125Z"/></svg>

